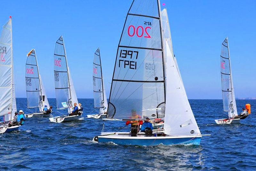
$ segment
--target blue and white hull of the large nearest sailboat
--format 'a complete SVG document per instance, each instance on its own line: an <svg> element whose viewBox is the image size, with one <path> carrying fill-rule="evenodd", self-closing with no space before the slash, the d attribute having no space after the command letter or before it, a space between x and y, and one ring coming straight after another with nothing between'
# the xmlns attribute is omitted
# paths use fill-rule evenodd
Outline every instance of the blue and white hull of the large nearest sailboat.
<svg viewBox="0 0 256 171"><path fill-rule="evenodd" d="M119 145L177 145L191 144L199 145L201 135L193 136L145 136L144 132L139 132L138 136L131 136L130 132L104 132L100 136L95 136L93 141L99 143L112 142Z"/></svg>

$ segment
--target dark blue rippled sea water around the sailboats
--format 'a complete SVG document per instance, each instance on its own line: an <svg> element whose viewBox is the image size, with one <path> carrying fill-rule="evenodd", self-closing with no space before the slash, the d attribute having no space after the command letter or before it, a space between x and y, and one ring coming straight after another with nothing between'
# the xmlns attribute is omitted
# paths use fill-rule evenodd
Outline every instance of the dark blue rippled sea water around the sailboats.
<svg viewBox="0 0 256 171"><path fill-rule="evenodd" d="M55 99L49 99L56 112ZM222 100L189 100L204 136L199 146L124 146L93 143L103 121L86 119L93 99L79 99L84 119L52 123L48 118L30 118L20 131L0 134L0 170L256 170L256 100L237 100L240 111L246 103L252 114L241 124L217 125L226 117ZM26 108L26 98L17 98L17 109ZM106 121L104 131L115 131L124 121ZM128 128L127 128L128 129Z"/></svg>

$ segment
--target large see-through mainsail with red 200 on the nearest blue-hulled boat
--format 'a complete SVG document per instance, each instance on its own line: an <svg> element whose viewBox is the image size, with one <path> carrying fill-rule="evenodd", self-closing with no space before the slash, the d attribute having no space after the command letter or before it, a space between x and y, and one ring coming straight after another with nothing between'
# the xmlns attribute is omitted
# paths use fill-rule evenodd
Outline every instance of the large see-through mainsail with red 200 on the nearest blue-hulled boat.
<svg viewBox="0 0 256 171"><path fill-rule="evenodd" d="M165 75L160 5L134 0L117 49L107 118L159 118L164 115ZM133 112L132 112L133 111Z"/></svg>

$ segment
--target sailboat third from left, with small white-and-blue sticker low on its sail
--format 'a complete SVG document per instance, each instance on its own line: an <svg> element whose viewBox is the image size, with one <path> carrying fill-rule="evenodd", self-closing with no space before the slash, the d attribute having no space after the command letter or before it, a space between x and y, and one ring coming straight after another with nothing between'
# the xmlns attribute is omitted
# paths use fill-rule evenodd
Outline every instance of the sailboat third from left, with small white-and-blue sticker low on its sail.
<svg viewBox="0 0 256 171"><path fill-rule="evenodd" d="M54 51L54 80L57 110L68 109L68 113L72 112L74 103L78 106L76 91L71 79L66 57L63 37L57 40ZM63 115L49 118L51 122L68 122L81 118L82 114L78 115Z"/></svg>

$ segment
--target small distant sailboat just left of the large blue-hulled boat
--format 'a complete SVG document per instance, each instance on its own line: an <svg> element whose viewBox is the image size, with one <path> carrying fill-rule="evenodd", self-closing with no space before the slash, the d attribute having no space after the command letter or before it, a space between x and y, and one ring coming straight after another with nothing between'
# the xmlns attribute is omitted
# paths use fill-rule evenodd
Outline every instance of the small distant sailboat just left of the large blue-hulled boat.
<svg viewBox="0 0 256 171"><path fill-rule="evenodd" d="M100 48L94 53L93 69L92 69L92 83L93 83L93 98L94 108L99 109L98 114L87 115L87 118L106 118L108 111L107 96L103 84Z"/></svg>

